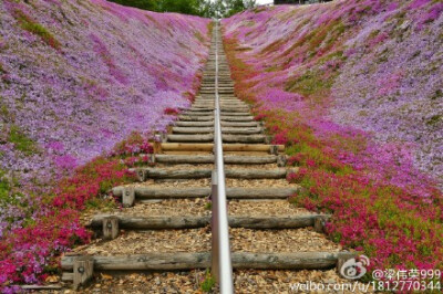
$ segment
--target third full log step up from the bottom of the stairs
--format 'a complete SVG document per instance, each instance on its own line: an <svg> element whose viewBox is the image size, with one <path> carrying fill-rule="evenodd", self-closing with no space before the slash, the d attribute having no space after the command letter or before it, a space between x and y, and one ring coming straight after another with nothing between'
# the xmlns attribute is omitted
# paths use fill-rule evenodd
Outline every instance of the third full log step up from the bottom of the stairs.
<svg viewBox="0 0 443 294"><path fill-rule="evenodd" d="M112 193L122 197L123 190L130 189L114 187ZM210 188L151 188L136 186L135 197L140 199L184 199L184 198L206 198L210 196ZM288 199L300 190L300 187L289 188L226 188L228 199Z"/></svg>

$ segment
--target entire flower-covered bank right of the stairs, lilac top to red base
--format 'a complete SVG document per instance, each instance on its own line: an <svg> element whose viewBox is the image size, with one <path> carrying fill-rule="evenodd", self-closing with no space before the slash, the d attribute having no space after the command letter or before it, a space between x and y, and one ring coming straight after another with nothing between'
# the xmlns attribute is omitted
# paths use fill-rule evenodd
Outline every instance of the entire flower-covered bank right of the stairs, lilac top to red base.
<svg viewBox="0 0 443 294"><path fill-rule="evenodd" d="M348 0L224 20L236 94L287 144L296 203L372 269L443 261L443 4Z"/></svg>

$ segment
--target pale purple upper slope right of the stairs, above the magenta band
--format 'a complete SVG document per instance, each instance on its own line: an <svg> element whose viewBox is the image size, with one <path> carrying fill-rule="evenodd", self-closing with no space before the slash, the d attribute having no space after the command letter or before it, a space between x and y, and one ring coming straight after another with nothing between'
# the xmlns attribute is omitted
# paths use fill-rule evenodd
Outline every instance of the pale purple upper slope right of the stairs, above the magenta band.
<svg viewBox="0 0 443 294"><path fill-rule="evenodd" d="M316 99L319 116L401 141L442 182L442 9L431 0L280 6L226 20L226 36L259 72L249 81L262 99L277 103L265 87L293 93L278 98L286 107Z"/></svg>

